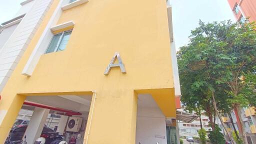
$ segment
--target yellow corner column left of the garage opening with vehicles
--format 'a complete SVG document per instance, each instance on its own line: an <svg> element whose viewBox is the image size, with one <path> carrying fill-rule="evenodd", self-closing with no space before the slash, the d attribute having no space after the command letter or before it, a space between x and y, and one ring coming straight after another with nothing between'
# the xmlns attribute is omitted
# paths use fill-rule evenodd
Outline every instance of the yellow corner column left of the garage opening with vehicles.
<svg viewBox="0 0 256 144"><path fill-rule="evenodd" d="M19 109L25 100L24 95L2 92L0 99L0 143L4 143Z"/></svg>

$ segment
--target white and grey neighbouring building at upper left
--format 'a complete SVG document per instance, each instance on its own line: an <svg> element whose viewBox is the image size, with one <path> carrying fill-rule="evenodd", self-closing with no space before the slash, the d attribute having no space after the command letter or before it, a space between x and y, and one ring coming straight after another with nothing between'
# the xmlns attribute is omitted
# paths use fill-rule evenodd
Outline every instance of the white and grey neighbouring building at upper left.
<svg viewBox="0 0 256 144"><path fill-rule="evenodd" d="M52 0L25 0L0 26L0 92L38 29ZM14 9L15 10L15 9Z"/></svg>

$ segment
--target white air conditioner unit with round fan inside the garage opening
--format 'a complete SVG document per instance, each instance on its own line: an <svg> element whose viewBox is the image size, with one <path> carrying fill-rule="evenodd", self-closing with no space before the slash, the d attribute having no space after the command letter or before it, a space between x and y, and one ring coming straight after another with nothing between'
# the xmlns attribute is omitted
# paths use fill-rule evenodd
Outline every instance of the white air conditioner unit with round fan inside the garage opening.
<svg viewBox="0 0 256 144"><path fill-rule="evenodd" d="M79 132L82 124L81 117L69 117L66 131Z"/></svg>

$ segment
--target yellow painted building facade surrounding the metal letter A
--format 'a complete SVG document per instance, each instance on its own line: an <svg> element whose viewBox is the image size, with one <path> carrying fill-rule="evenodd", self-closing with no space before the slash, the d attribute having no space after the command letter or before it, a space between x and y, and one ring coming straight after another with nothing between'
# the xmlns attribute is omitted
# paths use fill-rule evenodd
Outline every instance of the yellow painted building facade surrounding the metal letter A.
<svg viewBox="0 0 256 144"><path fill-rule="evenodd" d="M0 143L27 96L91 96L83 143L135 143L140 94L151 95L162 114L175 119L166 1L63 2L52 0L1 91ZM71 29L64 50L44 52L49 44L41 43L48 31L54 35ZM113 57L115 63L104 74Z"/></svg>

